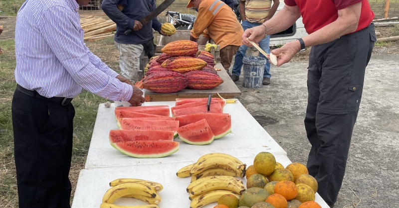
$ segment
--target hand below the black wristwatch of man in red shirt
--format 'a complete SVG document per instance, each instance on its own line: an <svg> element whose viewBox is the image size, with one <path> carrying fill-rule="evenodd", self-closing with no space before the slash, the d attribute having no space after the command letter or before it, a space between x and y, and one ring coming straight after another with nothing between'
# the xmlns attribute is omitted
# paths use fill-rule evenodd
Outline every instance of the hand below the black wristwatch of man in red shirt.
<svg viewBox="0 0 399 208"><path fill-rule="evenodd" d="M270 53L273 53L274 55L278 55L276 66L279 67L285 63L288 63L292 59L292 57L294 57L294 55L296 53L298 53L298 51L300 49L301 49L301 43L299 42L299 40L295 40L295 41L286 43L281 48L277 48L277 49L270 51ZM269 54L268 54L267 58L269 59L269 62L270 62Z"/></svg>

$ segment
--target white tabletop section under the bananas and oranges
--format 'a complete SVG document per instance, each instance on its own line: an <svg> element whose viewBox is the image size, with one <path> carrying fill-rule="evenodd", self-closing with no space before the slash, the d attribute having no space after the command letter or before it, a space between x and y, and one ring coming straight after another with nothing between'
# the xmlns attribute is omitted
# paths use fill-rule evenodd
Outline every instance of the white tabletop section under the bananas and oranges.
<svg viewBox="0 0 399 208"><path fill-rule="evenodd" d="M284 155L275 155L276 161L284 167L291 161ZM193 160L199 156L192 157ZM253 157L238 157L248 165L253 163ZM186 192L191 177L178 178L176 172L191 162L161 163L161 164L139 164L125 167L84 169L79 174L72 208L99 208L103 195L111 188L109 182L118 178L137 178L161 183L164 189L158 194L161 197L160 208L189 208L191 201ZM241 178L240 178L241 179ZM246 179L241 179L246 184ZM328 205L316 193L317 203L322 208ZM115 201L116 205L139 206L145 205L136 199L121 198ZM216 203L209 204L203 208L213 208Z"/></svg>

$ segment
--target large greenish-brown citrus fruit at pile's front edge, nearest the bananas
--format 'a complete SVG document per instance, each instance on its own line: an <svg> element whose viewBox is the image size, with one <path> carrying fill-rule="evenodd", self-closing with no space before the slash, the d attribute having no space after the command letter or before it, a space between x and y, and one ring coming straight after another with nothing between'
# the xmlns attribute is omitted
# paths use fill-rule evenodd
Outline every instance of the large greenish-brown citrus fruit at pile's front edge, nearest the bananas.
<svg viewBox="0 0 399 208"><path fill-rule="evenodd" d="M258 187L249 188L245 190L244 193L242 193L239 200L239 206L251 208L253 205L255 205L258 202L265 202L268 197L269 193L262 188Z"/></svg>

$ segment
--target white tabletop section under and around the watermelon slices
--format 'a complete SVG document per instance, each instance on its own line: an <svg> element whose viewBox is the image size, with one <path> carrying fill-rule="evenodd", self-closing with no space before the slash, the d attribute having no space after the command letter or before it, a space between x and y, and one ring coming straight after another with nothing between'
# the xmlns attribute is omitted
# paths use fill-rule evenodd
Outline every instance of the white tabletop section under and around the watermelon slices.
<svg viewBox="0 0 399 208"><path fill-rule="evenodd" d="M148 102L146 105L169 105L172 107L175 106L175 102ZM231 115L231 133L215 139L208 145L191 145L177 138L175 141L180 142L179 151L163 158L134 158L113 148L109 143L108 136L111 129L118 129L114 111L114 104L109 108L106 108L104 104L99 105L85 168L175 162L194 163L200 156L212 152L252 158L262 151L274 155L287 155L238 100L234 104L226 104L223 109L224 113Z"/></svg>

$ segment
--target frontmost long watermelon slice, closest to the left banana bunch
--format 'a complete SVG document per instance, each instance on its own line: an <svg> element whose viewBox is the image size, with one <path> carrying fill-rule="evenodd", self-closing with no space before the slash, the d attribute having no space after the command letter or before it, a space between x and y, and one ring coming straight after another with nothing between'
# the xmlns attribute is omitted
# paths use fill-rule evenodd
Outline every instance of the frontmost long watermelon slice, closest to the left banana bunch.
<svg viewBox="0 0 399 208"><path fill-rule="evenodd" d="M169 156L179 150L179 142L169 140L127 141L114 143L115 149L137 158L159 158Z"/></svg>

